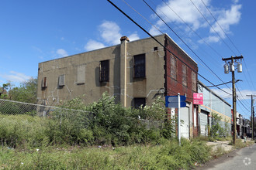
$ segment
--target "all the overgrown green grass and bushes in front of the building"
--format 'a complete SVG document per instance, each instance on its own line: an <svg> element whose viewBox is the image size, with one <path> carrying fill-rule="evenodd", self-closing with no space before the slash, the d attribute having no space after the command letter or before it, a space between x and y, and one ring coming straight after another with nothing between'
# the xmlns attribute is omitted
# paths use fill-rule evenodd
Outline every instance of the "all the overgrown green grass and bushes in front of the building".
<svg viewBox="0 0 256 170"><path fill-rule="evenodd" d="M80 99L62 106L84 110L78 113L0 114L0 169L188 169L206 162L205 141L182 139L179 146L175 125L164 121L165 107L157 102L127 109L104 93L88 106ZM158 124L150 127L138 116Z"/></svg>

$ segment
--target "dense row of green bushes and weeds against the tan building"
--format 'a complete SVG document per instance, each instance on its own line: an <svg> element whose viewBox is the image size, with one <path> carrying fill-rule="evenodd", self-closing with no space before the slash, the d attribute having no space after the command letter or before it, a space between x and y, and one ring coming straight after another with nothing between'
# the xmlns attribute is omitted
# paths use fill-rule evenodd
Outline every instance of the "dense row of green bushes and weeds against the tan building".
<svg viewBox="0 0 256 170"><path fill-rule="evenodd" d="M2 115L8 121L0 124L0 140L12 147L158 144L162 138L175 137L175 124L164 121L165 111L159 98L138 110L115 104L114 97L103 93L88 106L81 98L70 100L60 109L50 110L47 117L37 117L34 112Z"/></svg>

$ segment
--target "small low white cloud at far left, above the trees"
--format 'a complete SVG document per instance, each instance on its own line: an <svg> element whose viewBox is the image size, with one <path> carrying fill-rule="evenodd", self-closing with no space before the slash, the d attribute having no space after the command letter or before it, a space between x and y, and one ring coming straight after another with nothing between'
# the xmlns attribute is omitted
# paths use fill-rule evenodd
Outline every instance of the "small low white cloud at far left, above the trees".
<svg viewBox="0 0 256 170"><path fill-rule="evenodd" d="M24 73L18 73L16 71L10 71L9 74L0 75L7 81L22 83L26 80L29 80L31 76L26 76Z"/></svg>

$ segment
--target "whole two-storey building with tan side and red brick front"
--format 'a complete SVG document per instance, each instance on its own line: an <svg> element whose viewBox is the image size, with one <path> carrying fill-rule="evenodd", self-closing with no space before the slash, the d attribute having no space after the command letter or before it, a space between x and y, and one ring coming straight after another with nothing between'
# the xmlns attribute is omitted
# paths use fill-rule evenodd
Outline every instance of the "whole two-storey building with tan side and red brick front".
<svg viewBox="0 0 256 170"><path fill-rule="evenodd" d="M164 47L152 38L130 42L123 36L116 46L39 63L38 104L57 105L81 95L89 104L107 91L116 103L139 107L156 97L181 93L187 97L181 117L186 124L183 136L189 138L197 63L167 34L154 38Z"/></svg>

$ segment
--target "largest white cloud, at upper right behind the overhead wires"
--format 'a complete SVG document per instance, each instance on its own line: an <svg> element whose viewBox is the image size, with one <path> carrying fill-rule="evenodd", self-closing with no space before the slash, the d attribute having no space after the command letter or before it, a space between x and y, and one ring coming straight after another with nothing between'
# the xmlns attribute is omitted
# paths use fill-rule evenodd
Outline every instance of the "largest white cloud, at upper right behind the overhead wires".
<svg viewBox="0 0 256 170"><path fill-rule="evenodd" d="M241 5L237 4L239 2L238 0L233 0L233 5L231 5L230 8L216 8L210 3L210 0L204 0L203 2L227 34L230 33L230 26L240 22ZM210 15L204 4L202 3L202 0L168 0L168 2L158 5L156 12L165 22L174 22L175 25L178 25L179 29L182 28L182 31L185 32L188 32L189 30L186 24L192 27L194 31L198 29L208 29L209 36L206 36L204 40L206 42L219 42L220 37L224 39L226 38L226 35L219 24L213 19L212 15ZM203 17L199 11L202 13ZM154 15L151 18L156 19L157 17ZM209 22L213 28L209 26L204 18L207 19L207 22ZM161 29L166 27L161 19L158 19L155 25ZM216 32L220 37L216 35ZM158 31L152 27L150 33L156 35L158 34ZM201 40L199 42L202 43L203 41Z"/></svg>

